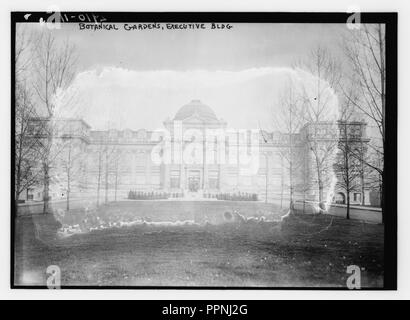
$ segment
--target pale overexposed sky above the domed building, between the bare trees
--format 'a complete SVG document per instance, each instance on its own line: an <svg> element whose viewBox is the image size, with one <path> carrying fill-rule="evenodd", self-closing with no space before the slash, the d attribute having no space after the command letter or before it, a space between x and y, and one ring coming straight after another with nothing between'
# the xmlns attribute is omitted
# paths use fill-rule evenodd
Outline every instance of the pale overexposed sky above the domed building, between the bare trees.
<svg viewBox="0 0 410 320"><path fill-rule="evenodd" d="M344 24L232 24L230 30L54 30L77 49L66 110L94 129L156 129L193 99L234 128L275 129L272 114L292 64L317 45L340 53ZM38 26L34 26L37 30Z"/></svg>

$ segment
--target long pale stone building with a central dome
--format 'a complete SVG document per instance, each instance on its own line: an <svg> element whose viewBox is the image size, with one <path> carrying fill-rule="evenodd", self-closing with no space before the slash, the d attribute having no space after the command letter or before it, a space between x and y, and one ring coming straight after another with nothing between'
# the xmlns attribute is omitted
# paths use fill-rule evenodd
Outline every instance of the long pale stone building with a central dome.
<svg viewBox="0 0 410 320"><path fill-rule="evenodd" d="M33 119L32 130L43 122ZM276 202L286 202L292 191L297 199L317 200L314 148L337 144L340 129L334 123L306 124L292 136L233 130L199 100L182 106L164 122L163 131L97 131L81 119L57 119L51 125L56 153L52 199L69 194L100 203L127 198L130 191L178 199L255 194L260 201ZM349 123L349 130L366 143L364 122ZM323 197L341 201L345 195L335 190L332 165L324 171ZM39 186L24 197L42 196ZM353 197L360 203L361 196Z"/></svg>

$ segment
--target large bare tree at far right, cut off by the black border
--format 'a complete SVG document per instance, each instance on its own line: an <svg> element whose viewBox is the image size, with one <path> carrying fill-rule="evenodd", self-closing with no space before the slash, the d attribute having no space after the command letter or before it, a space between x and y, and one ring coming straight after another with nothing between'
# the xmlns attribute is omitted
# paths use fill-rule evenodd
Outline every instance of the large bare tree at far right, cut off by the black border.
<svg viewBox="0 0 410 320"><path fill-rule="evenodd" d="M351 102L372 122L377 132L369 143L369 152L373 156L363 158L362 161L380 176L380 197L383 205L386 112L385 25L362 24L359 30L348 33L343 44L350 62L349 80L355 84L360 93L360 99ZM348 95L346 97L348 98ZM356 156L360 157L359 154ZM384 221L384 212L382 217Z"/></svg>

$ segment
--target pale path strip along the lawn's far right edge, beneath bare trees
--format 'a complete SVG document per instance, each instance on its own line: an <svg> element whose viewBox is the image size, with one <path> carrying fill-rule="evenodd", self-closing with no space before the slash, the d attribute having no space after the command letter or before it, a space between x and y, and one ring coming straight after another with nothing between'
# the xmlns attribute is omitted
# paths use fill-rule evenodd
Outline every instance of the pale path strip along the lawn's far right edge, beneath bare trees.
<svg viewBox="0 0 410 320"><path fill-rule="evenodd" d="M295 210L298 213L305 214L318 214L320 213L319 203L313 201L296 202ZM322 210L322 213L329 214L338 217L346 217L346 205L343 204L331 204L326 211ZM363 220L370 223L382 222L382 210L376 207L362 207L362 206L350 206L350 218L354 220Z"/></svg>

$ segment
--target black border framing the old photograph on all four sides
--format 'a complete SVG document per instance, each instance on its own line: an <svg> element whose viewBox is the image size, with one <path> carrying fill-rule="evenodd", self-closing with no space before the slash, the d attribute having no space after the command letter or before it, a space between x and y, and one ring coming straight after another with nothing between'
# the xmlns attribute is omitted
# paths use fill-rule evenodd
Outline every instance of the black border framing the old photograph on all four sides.
<svg viewBox="0 0 410 320"><path fill-rule="evenodd" d="M26 14L30 14L27 18ZM10 168L10 287L12 289L47 289L47 286L16 285L15 260L15 42L16 23L38 23L53 13L11 12L11 168ZM94 14L94 16L93 16ZM343 12L61 12L62 23L90 22L97 17L104 23L131 22L203 22L203 23L346 23L352 13ZM26 19L27 18L27 19ZM362 290L397 290L397 19L396 12L363 12L361 23L386 25L386 106L384 150L384 283L382 288ZM94 22L94 21L91 21ZM202 287L202 286L62 286L62 289L189 289L189 290L348 290L342 287Z"/></svg>

